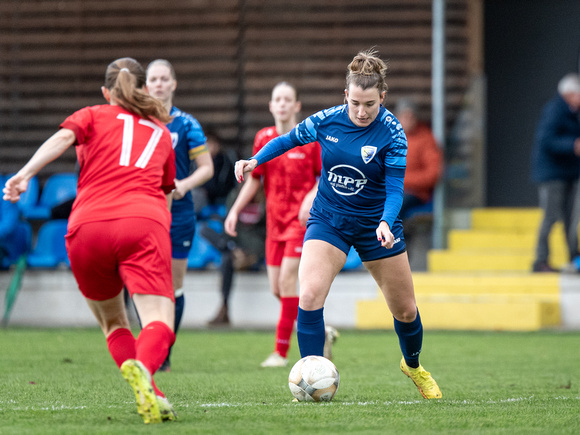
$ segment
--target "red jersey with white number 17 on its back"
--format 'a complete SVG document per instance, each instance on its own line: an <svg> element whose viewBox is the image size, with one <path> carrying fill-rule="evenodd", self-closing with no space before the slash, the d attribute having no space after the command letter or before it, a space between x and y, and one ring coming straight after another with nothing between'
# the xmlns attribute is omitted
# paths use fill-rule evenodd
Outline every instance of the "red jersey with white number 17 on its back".
<svg viewBox="0 0 580 435"><path fill-rule="evenodd" d="M169 231L166 193L175 188L171 134L120 106L85 107L61 124L76 136L80 164L69 232L85 222L144 217Z"/></svg>

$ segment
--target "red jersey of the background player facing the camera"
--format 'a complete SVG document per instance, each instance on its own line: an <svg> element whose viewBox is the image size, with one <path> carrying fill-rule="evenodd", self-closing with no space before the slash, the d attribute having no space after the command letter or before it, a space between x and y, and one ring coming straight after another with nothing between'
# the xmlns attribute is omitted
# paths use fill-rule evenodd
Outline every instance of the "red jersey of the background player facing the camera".
<svg viewBox="0 0 580 435"><path fill-rule="evenodd" d="M253 155L278 137L276 127L263 128L254 139ZM270 240L287 241L304 237L298 212L306 194L320 176L320 144L312 142L293 148L258 166L252 177L263 177L266 194L266 234Z"/></svg>

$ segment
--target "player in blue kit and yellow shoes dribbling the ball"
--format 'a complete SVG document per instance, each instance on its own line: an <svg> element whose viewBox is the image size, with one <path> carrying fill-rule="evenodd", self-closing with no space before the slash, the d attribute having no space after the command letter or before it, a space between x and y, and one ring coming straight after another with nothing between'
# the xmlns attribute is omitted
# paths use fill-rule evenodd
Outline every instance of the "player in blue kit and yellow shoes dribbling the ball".
<svg viewBox="0 0 580 435"><path fill-rule="evenodd" d="M394 317L403 353L400 368L423 397L441 398L431 374L419 364L423 326L398 217L403 201L407 139L399 121L381 102L386 65L373 50L348 66L346 104L322 110L273 139L249 160L244 173L291 148L318 141L322 175L310 211L299 269L297 336L300 354L322 355L324 302L351 246L380 287Z"/></svg>

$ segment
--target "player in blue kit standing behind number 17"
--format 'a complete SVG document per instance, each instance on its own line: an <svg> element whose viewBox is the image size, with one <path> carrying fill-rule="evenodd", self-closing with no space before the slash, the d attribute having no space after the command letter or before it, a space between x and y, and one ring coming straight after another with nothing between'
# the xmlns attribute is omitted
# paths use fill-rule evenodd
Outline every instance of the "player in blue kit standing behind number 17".
<svg viewBox="0 0 580 435"><path fill-rule="evenodd" d="M201 186L213 176L213 160L206 146L206 138L199 122L189 113L173 105L173 93L177 87L175 70L164 59L154 60L147 67L147 90L159 99L173 117L167 124L175 150L175 191L171 206L171 269L175 291L175 333L179 329L185 299L183 279L187 272L187 257L195 234L195 211L191 189ZM191 172L191 162L196 169ZM161 371L170 370L170 354Z"/></svg>

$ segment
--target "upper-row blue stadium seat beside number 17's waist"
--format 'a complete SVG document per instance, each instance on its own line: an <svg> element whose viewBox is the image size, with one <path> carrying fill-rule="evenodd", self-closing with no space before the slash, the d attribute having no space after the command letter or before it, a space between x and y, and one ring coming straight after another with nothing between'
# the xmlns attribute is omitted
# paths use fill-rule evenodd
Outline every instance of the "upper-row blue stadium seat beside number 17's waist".
<svg viewBox="0 0 580 435"><path fill-rule="evenodd" d="M51 175L44 183L38 203L22 210L27 219L48 220L51 209L77 194L78 177L74 172Z"/></svg>

